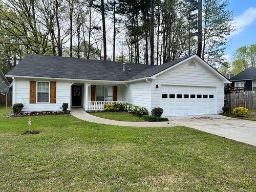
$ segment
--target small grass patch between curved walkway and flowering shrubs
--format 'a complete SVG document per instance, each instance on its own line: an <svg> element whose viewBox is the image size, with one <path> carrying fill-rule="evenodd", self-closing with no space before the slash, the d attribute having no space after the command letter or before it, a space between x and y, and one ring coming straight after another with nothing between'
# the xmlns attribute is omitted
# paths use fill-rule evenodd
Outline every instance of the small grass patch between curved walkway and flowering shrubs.
<svg viewBox="0 0 256 192"><path fill-rule="evenodd" d="M112 119L117 121L144 121L141 117L130 114L126 111L120 112L96 112L90 113L91 115L101 117L104 119Z"/></svg>

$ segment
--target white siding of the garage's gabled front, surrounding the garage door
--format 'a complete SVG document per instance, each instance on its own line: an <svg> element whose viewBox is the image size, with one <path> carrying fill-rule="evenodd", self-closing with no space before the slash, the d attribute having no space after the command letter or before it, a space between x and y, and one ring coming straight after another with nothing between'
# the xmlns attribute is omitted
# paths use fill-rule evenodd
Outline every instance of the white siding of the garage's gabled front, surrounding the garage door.
<svg viewBox="0 0 256 192"><path fill-rule="evenodd" d="M217 113L222 113L222 106L224 105L223 81L196 60L194 60L196 67L188 67L188 62L191 60L192 59L153 79L152 109L160 107L161 84L183 84L187 86L216 87ZM156 84L159 86L158 89L156 89Z"/></svg>

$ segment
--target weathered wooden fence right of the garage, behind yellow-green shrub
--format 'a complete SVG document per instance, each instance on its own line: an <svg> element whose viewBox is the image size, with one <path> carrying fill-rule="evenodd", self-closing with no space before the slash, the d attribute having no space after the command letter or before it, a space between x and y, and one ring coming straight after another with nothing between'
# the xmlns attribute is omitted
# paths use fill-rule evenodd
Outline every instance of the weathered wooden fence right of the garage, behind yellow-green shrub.
<svg viewBox="0 0 256 192"><path fill-rule="evenodd" d="M256 109L256 91L225 94L224 105L229 105L231 110L239 106L247 109Z"/></svg>

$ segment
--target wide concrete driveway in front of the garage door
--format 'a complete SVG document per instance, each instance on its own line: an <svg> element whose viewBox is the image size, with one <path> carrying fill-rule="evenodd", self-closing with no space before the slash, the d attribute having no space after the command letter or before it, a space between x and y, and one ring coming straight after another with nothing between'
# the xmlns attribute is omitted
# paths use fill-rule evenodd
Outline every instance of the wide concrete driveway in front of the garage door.
<svg viewBox="0 0 256 192"><path fill-rule="evenodd" d="M170 122L256 146L256 121L222 115L170 117Z"/></svg>

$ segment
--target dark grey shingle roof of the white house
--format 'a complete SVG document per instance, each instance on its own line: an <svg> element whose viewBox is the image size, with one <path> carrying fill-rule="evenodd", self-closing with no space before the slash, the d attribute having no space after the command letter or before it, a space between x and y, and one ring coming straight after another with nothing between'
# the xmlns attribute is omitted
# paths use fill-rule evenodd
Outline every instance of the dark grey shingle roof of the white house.
<svg viewBox="0 0 256 192"><path fill-rule="evenodd" d="M150 77L188 57L160 66L126 63L126 71L122 71L122 62L28 54L7 75L125 81Z"/></svg>

